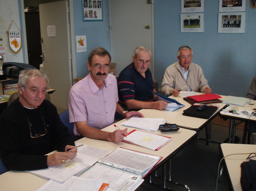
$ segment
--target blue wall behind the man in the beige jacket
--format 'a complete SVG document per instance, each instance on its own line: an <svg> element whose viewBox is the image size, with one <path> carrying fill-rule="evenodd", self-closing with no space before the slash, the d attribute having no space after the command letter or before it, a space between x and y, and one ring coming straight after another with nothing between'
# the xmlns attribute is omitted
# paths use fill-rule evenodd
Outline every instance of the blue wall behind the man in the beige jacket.
<svg viewBox="0 0 256 191"><path fill-rule="evenodd" d="M204 33L180 32L180 0L155 0L155 79L178 61L182 45L193 49L213 93L244 97L256 75L256 9L246 0L245 33L218 33L218 0L204 1Z"/></svg>

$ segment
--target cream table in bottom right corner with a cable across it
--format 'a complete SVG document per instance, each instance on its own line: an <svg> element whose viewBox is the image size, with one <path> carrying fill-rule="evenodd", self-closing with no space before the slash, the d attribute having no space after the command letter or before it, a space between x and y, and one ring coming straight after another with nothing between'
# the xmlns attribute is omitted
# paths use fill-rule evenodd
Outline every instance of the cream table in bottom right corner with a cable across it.
<svg viewBox="0 0 256 191"><path fill-rule="evenodd" d="M249 154L245 153L255 153L256 145L255 144L229 144L223 143L220 145L222 156L227 156L229 154L238 154L226 157L225 164L227 168L227 173L230 181L230 185L234 191L242 191L240 184L241 178L241 168L240 165L242 162L246 161L246 158Z"/></svg>

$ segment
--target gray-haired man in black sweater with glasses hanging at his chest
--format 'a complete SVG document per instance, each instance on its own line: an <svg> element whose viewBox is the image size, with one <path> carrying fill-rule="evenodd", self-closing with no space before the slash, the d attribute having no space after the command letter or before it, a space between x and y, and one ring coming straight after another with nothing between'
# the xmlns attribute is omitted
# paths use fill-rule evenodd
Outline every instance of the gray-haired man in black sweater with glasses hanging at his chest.
<svg viewBox="0 0 256 191"><path fill-rule="evenodd" d="M19 98L0 117L0 154L9 170L57 166L77 154L56 107L44 99L47 86L48 78L40 70L26 69L19 74ZM55 149L58 152L46 155Z"/></svg>

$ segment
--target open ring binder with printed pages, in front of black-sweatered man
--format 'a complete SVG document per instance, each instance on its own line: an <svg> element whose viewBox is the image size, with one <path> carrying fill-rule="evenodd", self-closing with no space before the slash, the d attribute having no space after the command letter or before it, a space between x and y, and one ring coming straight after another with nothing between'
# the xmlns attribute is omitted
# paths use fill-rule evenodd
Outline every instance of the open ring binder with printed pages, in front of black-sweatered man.
<svg viewBox="0 0 256 191"><path fill-rule="evenodd" d="M101 179L113 191L134 191L161 158L119 147L99 159L81 177Z"/></svg>

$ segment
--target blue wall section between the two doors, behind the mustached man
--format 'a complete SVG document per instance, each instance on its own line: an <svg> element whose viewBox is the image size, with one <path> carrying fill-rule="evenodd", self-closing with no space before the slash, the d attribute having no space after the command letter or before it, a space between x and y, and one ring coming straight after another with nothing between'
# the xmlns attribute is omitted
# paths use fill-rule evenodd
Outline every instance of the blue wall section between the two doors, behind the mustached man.
<svg viewBox="0 0 256 191"><path fill-rule="evenodd" d="M87 51L76 53L77 78L88 74L87 57L95 47L104 47L111 53L110 2L102 1L103 21L82 21L82 1L73 0L75 36L86 35ZM76 39L74 39L75 41Z"/></svg>

